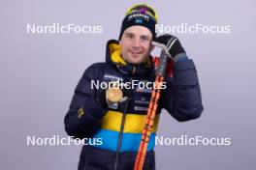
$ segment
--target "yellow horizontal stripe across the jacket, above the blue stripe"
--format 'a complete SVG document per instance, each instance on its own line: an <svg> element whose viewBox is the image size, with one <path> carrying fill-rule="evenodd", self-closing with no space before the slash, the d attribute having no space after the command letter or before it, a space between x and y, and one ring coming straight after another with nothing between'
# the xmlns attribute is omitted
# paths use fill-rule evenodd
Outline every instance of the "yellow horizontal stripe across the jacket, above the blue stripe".
<svg viewBox="0 0 256 170"><path fill-rule="evenodd" d="M118 111L109 110L102 121L102 128L113 131L119 131L122 120L122 113ZM146 115L127 114L124 132L125 133L142 133L144 129L144 121ZM154 125L151 132L156 132L159 122L159 115L155 116Z"/></svg>

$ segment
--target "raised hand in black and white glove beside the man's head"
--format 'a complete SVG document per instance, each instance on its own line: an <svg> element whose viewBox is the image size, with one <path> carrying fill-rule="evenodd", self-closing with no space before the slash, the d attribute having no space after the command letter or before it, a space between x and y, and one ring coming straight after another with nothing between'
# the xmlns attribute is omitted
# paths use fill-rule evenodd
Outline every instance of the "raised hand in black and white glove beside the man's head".
<svg viewBox="0 0 256 170"><path fill-rule="evenodd" d="M176 59L177 54L186 53L178 39L175 36L171 36L169 34L157 37L154 42L152 42L152 44L162 47L167 55L174 59Z"/></svg>

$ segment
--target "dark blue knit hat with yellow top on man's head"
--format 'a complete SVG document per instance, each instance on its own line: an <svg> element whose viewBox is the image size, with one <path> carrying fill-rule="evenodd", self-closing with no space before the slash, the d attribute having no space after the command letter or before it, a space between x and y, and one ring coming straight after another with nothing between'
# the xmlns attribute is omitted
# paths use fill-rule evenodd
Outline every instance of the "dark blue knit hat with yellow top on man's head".
<svg viewBox="0 0 256 170"><path fill-rule="evenodd" d="M146 4L135 5L128 9L122 21L119 40L126 28L141 25L146 27L152 33L153 39L156 37L155 24L157 23L158 15L156 12Z"/></svg>

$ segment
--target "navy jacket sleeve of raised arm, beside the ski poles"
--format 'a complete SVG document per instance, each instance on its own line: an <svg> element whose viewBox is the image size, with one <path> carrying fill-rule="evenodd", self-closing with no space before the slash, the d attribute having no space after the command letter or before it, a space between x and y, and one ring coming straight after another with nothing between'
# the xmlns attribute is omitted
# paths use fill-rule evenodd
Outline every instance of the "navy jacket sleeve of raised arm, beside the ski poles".
<svg viewBox="0 0 256 170"><path fill-rule="evenodd" d="M174 78L167 82L163 100L163 107L179 122L200 117L204 108L197 71L191 59L174 64Z"/></svg>

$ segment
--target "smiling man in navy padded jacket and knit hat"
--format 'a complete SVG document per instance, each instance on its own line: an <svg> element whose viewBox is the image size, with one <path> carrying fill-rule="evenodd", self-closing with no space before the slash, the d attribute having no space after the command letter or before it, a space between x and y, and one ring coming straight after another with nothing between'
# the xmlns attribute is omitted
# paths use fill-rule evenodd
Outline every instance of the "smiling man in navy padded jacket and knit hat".
<svg viewBox="0 0 256 170"><path fill-rule="evenodd" d="M148 143L144 169L155 169L154 139L159 115L165 108L177 121L198 118L202 100L194 63L173 36L156 38L157 14L147 5L128 10L122 21L119 41L107 43L105 63L96 63L84 71L65 117L65 129L77 138L101 139L101 145L84 145L79 170L133 169L140 146L144 119L152 89L138 83L154 82L155 66L150 56L152 41L162 43L174 58L173 75L165 79L157 114ZM123 100L106 99L108 89L92 87L92 82L137 82L134 88L121 88ZM108 95L107 95L108 96ZM125 115L125 117L124 117Z"/></svg>

